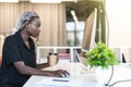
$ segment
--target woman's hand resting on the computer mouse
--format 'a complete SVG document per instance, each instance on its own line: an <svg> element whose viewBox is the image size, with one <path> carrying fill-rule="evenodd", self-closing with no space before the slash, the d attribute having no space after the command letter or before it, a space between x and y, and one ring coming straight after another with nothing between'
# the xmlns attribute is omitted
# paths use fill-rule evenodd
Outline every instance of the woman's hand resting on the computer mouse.
<svg viewBox="0 0 131 87"><path fill-rule="evenodd" d="M66 70L57 70L52 72L55 77L67 77L70 75L70 73Z"/></svg>

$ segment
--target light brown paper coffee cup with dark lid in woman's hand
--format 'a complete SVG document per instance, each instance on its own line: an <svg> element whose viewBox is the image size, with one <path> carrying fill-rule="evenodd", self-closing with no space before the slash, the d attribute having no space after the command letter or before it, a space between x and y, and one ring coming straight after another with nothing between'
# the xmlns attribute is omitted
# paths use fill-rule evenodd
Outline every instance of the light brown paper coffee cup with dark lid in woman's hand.
<svg viewBox="0 0 131 87"><path fill-rule="evenodd" d="M58 53L49 52L49 55L48 55L49 65L56 65L57 62L58 62Z"/></svg>

